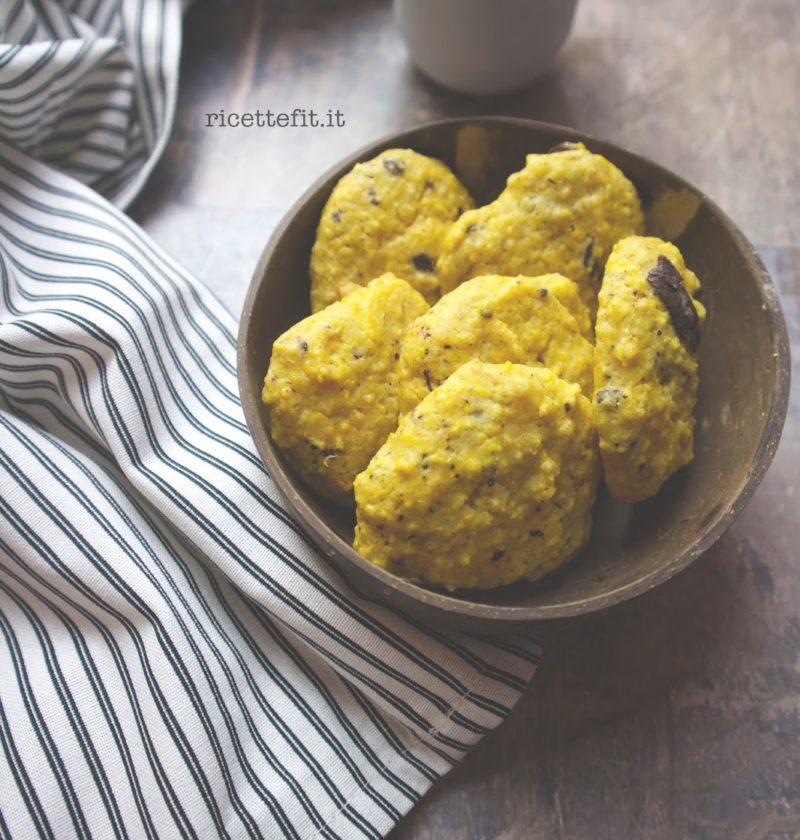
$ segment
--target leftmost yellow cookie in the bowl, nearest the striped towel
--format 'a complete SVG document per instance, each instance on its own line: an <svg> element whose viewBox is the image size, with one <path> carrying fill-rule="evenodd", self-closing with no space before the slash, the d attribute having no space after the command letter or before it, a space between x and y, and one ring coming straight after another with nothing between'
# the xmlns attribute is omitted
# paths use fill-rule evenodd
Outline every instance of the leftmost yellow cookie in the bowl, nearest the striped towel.
<svg viewBox="0 0 800 840"><path fill-rule="evenodd" d="M427 308L387 274L275 341L261 395L270 433L322 495L352 503L353 479L397 425L400 337Z"/></svg>

